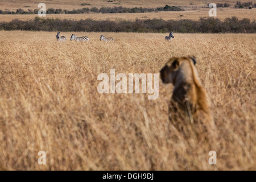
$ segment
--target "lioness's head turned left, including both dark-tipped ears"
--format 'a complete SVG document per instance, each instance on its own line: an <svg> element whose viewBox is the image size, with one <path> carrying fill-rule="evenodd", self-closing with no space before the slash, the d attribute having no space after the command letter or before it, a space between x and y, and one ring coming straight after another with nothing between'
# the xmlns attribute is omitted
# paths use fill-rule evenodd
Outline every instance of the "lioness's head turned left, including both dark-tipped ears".
<svg viewBox="0 0 256 182"><path fill-rule="evenodd" d="M160 71L160 77L164 84L174 82L174 77L180 68L180 64L184 59L191 59L196 64L195 57L172 57Z"/></svg>

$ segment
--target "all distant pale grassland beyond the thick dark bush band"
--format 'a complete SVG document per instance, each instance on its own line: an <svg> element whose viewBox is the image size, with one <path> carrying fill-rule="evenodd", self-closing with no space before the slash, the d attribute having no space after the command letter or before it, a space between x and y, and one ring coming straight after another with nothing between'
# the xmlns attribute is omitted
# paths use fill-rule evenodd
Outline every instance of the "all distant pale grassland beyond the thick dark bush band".
<svg viewBox="0 0 256 182"><path fill-rule="evenodd" d="M73 9L82 9L84 7L97 7L101 8L102 6L105 7L115 7L115 6L122 6L122 7L147 7L147 8L155 8L155 7L164 7L165 5L170 6L181 6L185 11L159 11L158 13L122 13L122 14L47 14L46 18L59 18L59 19L73 19L73 20L80 20L91 18L94 20L135 20L135 19L192 19L198 20L201 17L208 16L209 9L207 5L209 1L114 1L108 2L107 0L96 0L96 1L40 1L46 4L46 9L53 8L53 9L66 9L66 10L73 10ZM234 9L233 5L236 4L237 1L214 1L214 3L229 3L231 6L228 8L218 8L217 9L217 18L224 20L225 18L231 18L232 16L237 16L238 19L249 18L250 20L255 20L256 17L256 9ZM242 0L241 2L247 2L246 0ZM10 10L16 11L16 9L23 9L27 11L28 9L34 10L39 9L38 3L35 1L2 1L0 2L0 10ZM82 3L86 3L89 5L82 6ZM182 16L181 16L182 15ZM13 19L34 19L38 17L37 14L16 14L16 15L0 15L0 21L10 22Z"/></svg>

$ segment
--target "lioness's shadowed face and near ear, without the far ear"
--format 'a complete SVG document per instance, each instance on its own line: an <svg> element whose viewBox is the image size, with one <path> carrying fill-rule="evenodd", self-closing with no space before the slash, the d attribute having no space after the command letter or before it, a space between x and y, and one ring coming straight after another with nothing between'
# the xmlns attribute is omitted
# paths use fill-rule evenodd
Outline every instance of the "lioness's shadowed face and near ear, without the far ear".
<svg viewBox="0 0 256 182"><path fill-rule="evenodd" d="M175 72L179 69L179 59L172 57L160 71L160 77L164 84L173 82Z"/></svg>

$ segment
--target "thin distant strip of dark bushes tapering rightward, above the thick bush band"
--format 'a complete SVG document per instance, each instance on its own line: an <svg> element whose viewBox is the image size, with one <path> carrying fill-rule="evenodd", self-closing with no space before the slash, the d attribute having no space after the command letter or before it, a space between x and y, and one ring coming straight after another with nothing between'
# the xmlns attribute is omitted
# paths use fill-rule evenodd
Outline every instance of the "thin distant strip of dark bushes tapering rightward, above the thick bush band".
<svg viewBox="0 0 256 182"><path fill-rule="evenodd" d="M82 5L85 5L82 4ZM16 11L0 10L0 14L38 14L39 9L24 11L23 9L17 9ZM62 10L62 9L53 9L50 8L46 11L46 14L83 14L83 13L150 13L150 12L158 12L158 11L184 11L181 7L177 6L164 6L164 7L156 7L156 8L143 8L143 7L101 7L98 9L97 7L85 7L83 9L77 10Z"/></svg>

